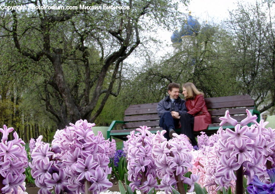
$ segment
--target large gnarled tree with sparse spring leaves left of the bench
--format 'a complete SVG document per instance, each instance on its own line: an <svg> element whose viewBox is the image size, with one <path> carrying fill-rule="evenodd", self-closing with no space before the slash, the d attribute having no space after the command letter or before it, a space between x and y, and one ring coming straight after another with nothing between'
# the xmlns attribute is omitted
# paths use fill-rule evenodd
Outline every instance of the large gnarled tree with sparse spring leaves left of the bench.
<svg viewBox="0 0 275 194"><path fill-rule="evenodd" d="M149 24L151 28L152 25L169 27L179 15L178 3L168 0L1 3L40 8L76 6L75 9L1 10L2 37L15 47L20 62L24 61L24 66L35 76L36 96L44 101L59 127L78 119L94 121L110 95L119 94L123 60L151 39L141 33ZM101 9L79 9L83 5ZM112 9L113 6L121 7ZM111 9L104 9L108 7Z"/></svg>

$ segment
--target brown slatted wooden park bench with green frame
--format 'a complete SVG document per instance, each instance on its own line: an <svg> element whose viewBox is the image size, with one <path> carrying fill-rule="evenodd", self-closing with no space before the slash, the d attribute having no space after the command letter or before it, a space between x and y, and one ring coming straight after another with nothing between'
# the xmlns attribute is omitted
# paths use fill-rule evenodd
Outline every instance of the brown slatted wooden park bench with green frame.
<svg viewBox="0 0 275 194"><path fill-rule="evenodd" d="M237 96L225 96L225 97L213 97L205 98L206 106L211 115L212 123L208 126L207 130L203 130L206 134L210 135L216 133L219 129L219 118L225 115L226 110L229 110L229 114L237 121L241 121L247 117L246 109L248 109L252 115L257 115L257 121L260 121L260 112L255 110L254 100L249 95L237 95ZM107 138L117 137L122 140L127 139L127 135L132 130L139 128L139 126L151 127L150 131L156 133L158 130L162 130L159 126L159 116L157 114L158 103L149 104L132 104L124 112L123 121L113 121L107 130ZM231 128L229 123L225 123L223 128ZM180 129L176 129L177 132ZM195 135L200 134L195 132Z"/></svg>

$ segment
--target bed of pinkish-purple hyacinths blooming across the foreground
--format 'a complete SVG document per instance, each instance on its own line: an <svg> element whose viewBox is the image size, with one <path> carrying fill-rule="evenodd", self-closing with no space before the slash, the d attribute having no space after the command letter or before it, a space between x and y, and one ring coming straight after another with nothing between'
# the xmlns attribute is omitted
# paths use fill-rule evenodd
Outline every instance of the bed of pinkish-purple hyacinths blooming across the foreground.
<svg viewBox="0 0 275 194"><path fill-rule="evenodd" d="M30 141L31 169L24 141L16 132L8 141L14 129L4 125L0 128L0 189L2 193L25 193L24 181L31 181L32 176L40 189L30 193L99 193L112 188L112 172L120 193L186 193L187 189L196 193L272 193L275 129L265 128L266 122L257 123L249 111L247 115L238 123L226 111L220 125L230 123L235 130L220 128L210 137L202 133L198 148L185 135L174 134L167 141L164 131L152 134L141 126L124 143L125 156L116 151L114 140L93 133L94 123L79 120L57 130L51 145L42 136ZM248 126L251 122L254 124Z"/></svg>

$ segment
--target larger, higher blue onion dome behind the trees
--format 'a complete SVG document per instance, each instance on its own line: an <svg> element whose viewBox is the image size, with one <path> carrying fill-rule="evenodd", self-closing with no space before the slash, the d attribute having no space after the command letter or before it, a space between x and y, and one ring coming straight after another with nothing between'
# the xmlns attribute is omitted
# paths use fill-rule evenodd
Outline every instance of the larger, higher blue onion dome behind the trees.
<svg viewBox="0 0 275 194"><path fill-rule="evenodd" d="M180 30L181 36L190 36L193 34L196 34L200 31L200 23L198 20L193 18L191 14L189 13L189 16L187 16L187 20L182 26L182 29Z"/></svg>

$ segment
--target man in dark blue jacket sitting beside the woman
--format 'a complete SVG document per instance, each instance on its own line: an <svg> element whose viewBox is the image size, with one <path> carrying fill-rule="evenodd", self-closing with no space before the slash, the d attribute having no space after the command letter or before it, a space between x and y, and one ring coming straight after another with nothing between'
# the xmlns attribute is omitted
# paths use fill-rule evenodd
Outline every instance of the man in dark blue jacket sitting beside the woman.
<svg viewBox="0 0 275 194"><path fill-rule="evenodd" d="M160 117L160 127L167 131L167 133L164 134L167 140L173 137L172 134L176 133L176 127L179 127L179 116L183 112L187 112L185 100L179 97L179 89L180 85L177 83L173 82L168 84L169 96L161 100L157 106Z"/></svg>

